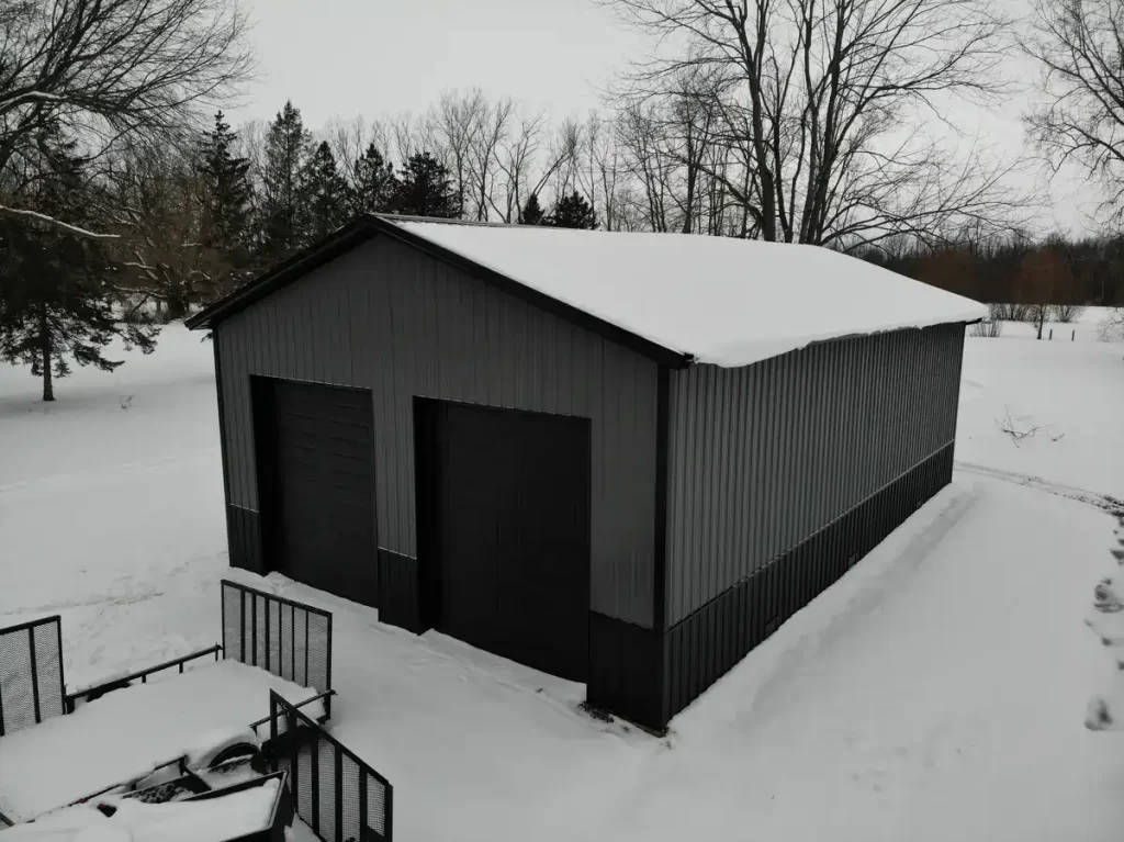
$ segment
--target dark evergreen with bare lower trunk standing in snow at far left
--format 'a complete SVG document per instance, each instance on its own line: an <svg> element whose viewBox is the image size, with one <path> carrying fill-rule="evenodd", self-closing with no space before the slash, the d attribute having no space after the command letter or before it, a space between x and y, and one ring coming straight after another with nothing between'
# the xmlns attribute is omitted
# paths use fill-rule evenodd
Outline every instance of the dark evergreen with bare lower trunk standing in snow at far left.
<svg viewBox="0 0 1124 842"><path fill-rule="evenodd" d="M40 214L63 212L76 225L92 225L83 166L73 143L56 132L40 137L42 178L27 196ZM111 279L116 274L103 241L57 226L6 219L0 223L0 359L29 363L43 379L43 399L54 400L54 379L71 372L70 362L112 371L123 361L102 350L114 336L126 350L152 353L157 328L114 313Z"/></svg>

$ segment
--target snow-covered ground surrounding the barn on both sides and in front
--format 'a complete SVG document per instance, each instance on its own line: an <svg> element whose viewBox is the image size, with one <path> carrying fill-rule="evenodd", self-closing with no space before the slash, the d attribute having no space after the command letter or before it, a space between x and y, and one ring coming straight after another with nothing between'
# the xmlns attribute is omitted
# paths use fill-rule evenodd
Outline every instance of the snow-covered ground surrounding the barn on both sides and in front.
<svg viewBox="0 0 1124 842"><path fill-rule="evenodd" d="M953 486L662 740L264 582L335 613L333 730L395 784L396 835L1120 840L1124 734L1082 725L1113 662L1082 621L1116 569L1097 504L1124 497L1124 345L1007 338L967 343ZM214 643L218 579L263 582L226 567L210 345L174 326L56 387L45 408L0 369L0 625L61 613L71 685ZM1039 426L1019 446L1008 410Z"/></svg>

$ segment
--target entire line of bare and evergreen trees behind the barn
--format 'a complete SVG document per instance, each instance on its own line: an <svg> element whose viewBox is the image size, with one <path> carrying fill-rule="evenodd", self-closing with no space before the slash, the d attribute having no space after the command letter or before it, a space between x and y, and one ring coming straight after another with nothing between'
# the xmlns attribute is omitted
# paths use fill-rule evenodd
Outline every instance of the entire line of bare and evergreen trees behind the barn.
<svg viewBox="0 0 1124 842"><path fill-rule="evenodd" d="M602 0L661 45L551 121L451 91L415 115L297 105L232 127L239 0L0 3L0 359L47 379L182 316L360 212L836 248L982 300L1121 302L1124 0ZM1025 89L1027 153L957 106ZM1103 229L1033 241L1034 164L1084 168ZM964 232L970 232L966 236Z"/></svg>

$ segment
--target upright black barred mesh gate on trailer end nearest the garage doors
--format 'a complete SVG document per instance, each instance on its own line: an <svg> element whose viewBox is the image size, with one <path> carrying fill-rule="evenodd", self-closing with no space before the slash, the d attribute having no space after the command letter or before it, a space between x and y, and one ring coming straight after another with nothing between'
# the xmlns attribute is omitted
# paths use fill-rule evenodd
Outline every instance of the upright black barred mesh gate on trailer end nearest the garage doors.
<svg viewBox="0 0 1124 842"><path fill-rule="evenodd" d="M332 614L224 579L223 653L326 692L332 689ZM324 712L332 713L330 696Z"/></svg>

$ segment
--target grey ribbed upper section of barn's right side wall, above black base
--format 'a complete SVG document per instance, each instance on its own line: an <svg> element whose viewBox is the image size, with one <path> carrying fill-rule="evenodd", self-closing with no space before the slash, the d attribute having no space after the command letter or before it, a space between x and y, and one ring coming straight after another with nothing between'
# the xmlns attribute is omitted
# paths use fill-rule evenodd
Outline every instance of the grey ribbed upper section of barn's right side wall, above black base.
<svg viewBox="0 0 1124 842"><path fill-rule="evenodd" d="M669 624L952 442L962 350L942 325L673 371Z"/></svg>

